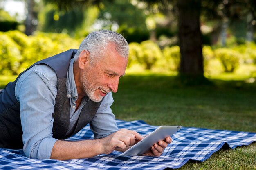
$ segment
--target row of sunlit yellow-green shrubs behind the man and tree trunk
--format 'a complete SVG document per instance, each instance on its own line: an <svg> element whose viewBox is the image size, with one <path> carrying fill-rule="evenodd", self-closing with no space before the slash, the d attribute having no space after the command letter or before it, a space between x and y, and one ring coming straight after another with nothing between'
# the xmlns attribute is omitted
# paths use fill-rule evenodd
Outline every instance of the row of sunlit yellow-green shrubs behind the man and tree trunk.
<svg viewBox="0 0 256 170"><path fill-rule="evenodd" d="M27 36L19 31L7 31L1 33L1 36L4 42L0 47L2 50L1 60L2 63L9 63L9 67L2 66L1 68L1 72L4 74L18 74L40 59L70 48L78 48L82 41L82 39L73 39L65 33L36 32L32 36ZM153 69L162 72L179 70L179 46L165 47L160 50L153 41L143 41L141 43L132 42L129 47L127 68L130 70ZM251 67L247 69L248 74L254 75L253 64L256 64L256 44L254 43L215 49L212 49L211 46L204 46L202 52L204 71L207 76L213 76L213 74L216 76L222 71L239 70L240 72L242 66L246 67L246 65ZM236 69L238 66L239 69Z"/></svg>

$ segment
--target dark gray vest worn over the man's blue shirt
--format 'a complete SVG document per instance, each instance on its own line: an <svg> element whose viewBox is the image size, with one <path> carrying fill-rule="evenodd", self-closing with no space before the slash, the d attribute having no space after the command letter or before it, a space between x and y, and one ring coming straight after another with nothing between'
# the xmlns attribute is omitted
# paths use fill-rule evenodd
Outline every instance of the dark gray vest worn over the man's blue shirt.
<svg viewBox="0 0 256 170"><path fill-rule="evenodd" d="M29 67L31 68L38 64L46 64L49 65L58 76L58 92L55 98L56 104L54 106L54 113L52 113L52 117L54 118L52 134L56 139L66 139L80 131L92 120L101 104L101 102L93 102L92 100L89 100L81 110L74 131L67 134L70 124L70 102L67 98L66 89L67 70L69 68L70 59L74 57L76 52L77 50L70 49L61 54L38 61ZM24 72L22 72L18 78L20 78ZM7 86L0 91L0 148L23 147L20 104L16 99L14 92L18 78L14 82L8 83ZM85 100L87 99L88 96L85 96ZM33 129L31 129L31 131L32 130Z"/></svg>

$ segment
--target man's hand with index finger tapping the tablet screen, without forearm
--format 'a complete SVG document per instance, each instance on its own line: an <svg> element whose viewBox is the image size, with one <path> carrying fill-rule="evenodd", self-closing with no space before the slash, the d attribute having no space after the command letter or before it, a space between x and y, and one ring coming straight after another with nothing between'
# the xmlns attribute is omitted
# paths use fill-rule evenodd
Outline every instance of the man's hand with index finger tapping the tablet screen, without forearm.
<svg viewBox="0 0 256 170"><path fill-rule="evenodd" d="M124 152L129 146L133 146L143 138L144 137L139 135L136 131L120 129L119 131L100 139L100 147L104 154L109 154L113 150Z"/></svg>

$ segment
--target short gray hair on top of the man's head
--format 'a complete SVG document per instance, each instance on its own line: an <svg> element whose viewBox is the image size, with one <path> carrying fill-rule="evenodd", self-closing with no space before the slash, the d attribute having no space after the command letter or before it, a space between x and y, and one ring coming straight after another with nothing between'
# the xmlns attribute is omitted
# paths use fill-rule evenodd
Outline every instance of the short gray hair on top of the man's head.
<svg viewBox="0 0 256 170"><path fill-rule="evenodd" d="M127 58L129 46L126 39L119 33L109 30L99 30L91 32L80 44L77 53L74 56L75 61L78 59L81 51L88 50L91 60L99 59L104 55L108 44L114 44L115 50L122 57Z"/></svg>

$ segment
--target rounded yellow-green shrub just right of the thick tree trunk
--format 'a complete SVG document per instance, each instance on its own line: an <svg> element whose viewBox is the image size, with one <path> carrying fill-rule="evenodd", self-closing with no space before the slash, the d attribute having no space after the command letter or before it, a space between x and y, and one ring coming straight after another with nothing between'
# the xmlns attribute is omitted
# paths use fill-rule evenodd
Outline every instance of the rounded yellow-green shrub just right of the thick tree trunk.
<svg viewBox="0 0 256 170"><path fill-rule="evenodd" d="M235 50L219 48L214 51L215 56L220 59L225 72L234 72L239 66L240 54Z"/></svg>

